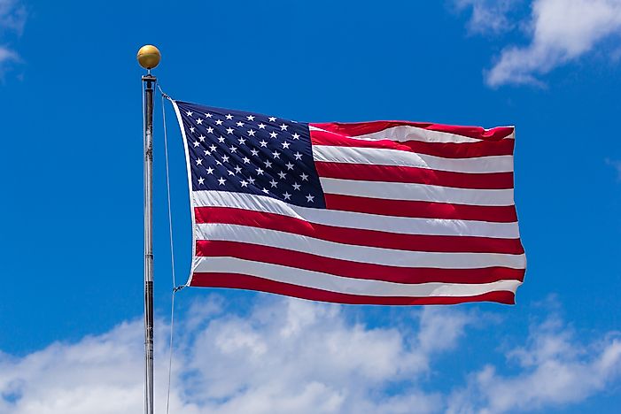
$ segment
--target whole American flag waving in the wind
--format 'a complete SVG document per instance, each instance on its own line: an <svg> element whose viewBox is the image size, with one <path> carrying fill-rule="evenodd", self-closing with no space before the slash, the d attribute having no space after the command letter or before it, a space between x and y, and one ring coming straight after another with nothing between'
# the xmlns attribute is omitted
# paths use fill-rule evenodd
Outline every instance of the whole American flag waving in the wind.
<svg viewBox="0 0 621 414"><path fill-rule="evenodd" d="M308 124L173 101L188 286L369 304L515 303L513 127Z"/></svg>

